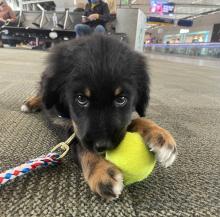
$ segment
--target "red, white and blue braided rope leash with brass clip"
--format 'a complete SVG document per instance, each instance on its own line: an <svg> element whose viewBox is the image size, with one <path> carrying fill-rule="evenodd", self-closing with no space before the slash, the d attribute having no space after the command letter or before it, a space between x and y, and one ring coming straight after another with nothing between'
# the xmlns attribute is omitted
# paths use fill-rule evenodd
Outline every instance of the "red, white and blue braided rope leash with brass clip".
<svg viewBox="0 0 220 217"><path fill-rule="evenodd" d="M40 156L36 159L29 160L28 162L21 164L20 166L11 168L4 172L0 173L0 187L3 186L8 181L11 181L18 176L25 175L33 170L48 167L48 166L55 166L61 163L61 159L68 153L69 151L69 144L74 139L75 134L72 134L65 142L61 142L56 145L52 150L51 153ZM54 152L57 149L61 148L64 150L63 154L59 155L58 153Z"/></svg>

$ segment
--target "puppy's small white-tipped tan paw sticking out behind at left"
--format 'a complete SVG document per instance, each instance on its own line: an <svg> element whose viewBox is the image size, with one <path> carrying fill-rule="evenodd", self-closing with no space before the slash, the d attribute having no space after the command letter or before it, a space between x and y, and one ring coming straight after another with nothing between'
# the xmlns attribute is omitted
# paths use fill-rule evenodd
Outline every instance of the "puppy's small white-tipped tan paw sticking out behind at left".
<svg viewBox="0 0 220 217"><path fill-rule="evenodd" d="M23 105L21 106L21 111L27 113L36 112L41 110L41 105L42 105L42 98L38 95L32 96L24 101Z"/></svg>

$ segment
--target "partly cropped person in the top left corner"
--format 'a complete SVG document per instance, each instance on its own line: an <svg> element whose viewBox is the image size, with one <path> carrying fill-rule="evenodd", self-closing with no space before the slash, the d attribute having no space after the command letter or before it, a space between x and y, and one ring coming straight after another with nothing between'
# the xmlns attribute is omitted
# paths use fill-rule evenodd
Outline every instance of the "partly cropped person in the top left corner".
<svg viewBox="0 0 220 217"><path fill-rule="evenodd" d="M0 26L13 24L15 22L16 15L11 7L4 0L0 0Z"/></svg>

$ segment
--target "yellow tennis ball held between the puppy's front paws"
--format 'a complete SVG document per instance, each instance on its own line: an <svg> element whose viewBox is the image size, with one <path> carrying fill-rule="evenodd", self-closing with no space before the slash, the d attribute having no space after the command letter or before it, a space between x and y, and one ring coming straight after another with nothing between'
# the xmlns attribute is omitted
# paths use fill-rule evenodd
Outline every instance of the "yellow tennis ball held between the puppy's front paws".
<svg viewBox="0 0 220 217"><path fill-rule="evenodd" d="M123 172L125 185L147 178L156 164L141 135L130 132L114 150L106 152L106 159Z"/></svg>

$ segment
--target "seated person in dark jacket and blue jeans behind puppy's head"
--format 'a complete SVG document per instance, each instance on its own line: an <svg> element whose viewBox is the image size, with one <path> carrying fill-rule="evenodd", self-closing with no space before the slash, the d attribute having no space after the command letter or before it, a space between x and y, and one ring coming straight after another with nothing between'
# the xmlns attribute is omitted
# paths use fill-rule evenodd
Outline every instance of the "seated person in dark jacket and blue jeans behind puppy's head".
<svg viewBox="0 0 220 217"><path fill-rule="evenodd" d="M105 33L105 24L110 20L108 4L102 0L89 0L85 6L82 24L74 27L76 37L92 32Z"/></svg>

